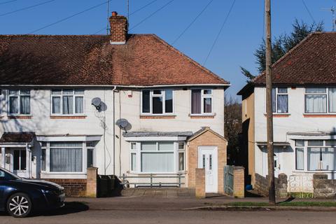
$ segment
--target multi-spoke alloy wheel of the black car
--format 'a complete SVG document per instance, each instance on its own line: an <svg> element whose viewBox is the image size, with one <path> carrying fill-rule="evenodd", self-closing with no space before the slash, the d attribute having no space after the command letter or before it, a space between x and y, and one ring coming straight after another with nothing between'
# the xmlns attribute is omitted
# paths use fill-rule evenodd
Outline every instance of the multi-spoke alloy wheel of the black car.
<svg viewBox="0 0 336 224"><path fill-rule="evenodd" d="M9 197L7 201L7 211L10 216L24 218L31 212L31 200L24 193L16 193Z"/></svg>

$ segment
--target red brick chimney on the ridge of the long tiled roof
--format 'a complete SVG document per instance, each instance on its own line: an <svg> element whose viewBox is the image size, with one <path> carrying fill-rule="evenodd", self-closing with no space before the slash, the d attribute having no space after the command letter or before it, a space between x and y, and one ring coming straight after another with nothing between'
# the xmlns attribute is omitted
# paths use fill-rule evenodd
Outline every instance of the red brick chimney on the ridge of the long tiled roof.
<svg viewBox="0 0 336 224"><path fill-rule="evenodd" d="M127 38L127 18L123 15L118 15L117 12L112 12L110 17L111 44L125 44Z"/></svg>

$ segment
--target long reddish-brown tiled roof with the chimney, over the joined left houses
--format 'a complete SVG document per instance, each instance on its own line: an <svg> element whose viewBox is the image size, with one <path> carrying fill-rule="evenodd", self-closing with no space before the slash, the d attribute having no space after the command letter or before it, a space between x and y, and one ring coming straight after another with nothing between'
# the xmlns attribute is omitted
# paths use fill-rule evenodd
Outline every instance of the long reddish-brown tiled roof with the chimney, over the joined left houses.
<svg viewBox="0 0 336 224"><path fill-rule="evenodd" d="M0 36L0 85L228 84L153 34Z"/></svg>

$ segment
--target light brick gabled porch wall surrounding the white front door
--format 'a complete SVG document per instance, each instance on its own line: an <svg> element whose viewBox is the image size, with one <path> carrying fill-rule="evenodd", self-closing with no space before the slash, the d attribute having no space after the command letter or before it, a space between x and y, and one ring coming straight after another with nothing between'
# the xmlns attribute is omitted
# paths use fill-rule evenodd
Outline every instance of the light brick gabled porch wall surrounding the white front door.
<svg viewBox="0 0 336 224"><path fill-rule="evenodd" d="M198 168L198 146L217 146L218 148L218 193L224 193L224 166L226 165L226 141L209 131L189 142L188 188L195 188L195 169Z"/></svg>

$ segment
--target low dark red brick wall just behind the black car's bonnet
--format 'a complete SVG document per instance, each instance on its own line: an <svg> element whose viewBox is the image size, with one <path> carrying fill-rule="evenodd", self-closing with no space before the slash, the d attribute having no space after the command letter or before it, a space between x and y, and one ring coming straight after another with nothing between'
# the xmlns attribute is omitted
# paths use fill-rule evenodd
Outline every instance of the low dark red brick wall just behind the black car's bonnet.
<svg viewBox="0 0 336 224"><path fill-rule="evenodd" d="M64 188L67 197L82 197L86 194L86 179L44 179Z"/></svg>

